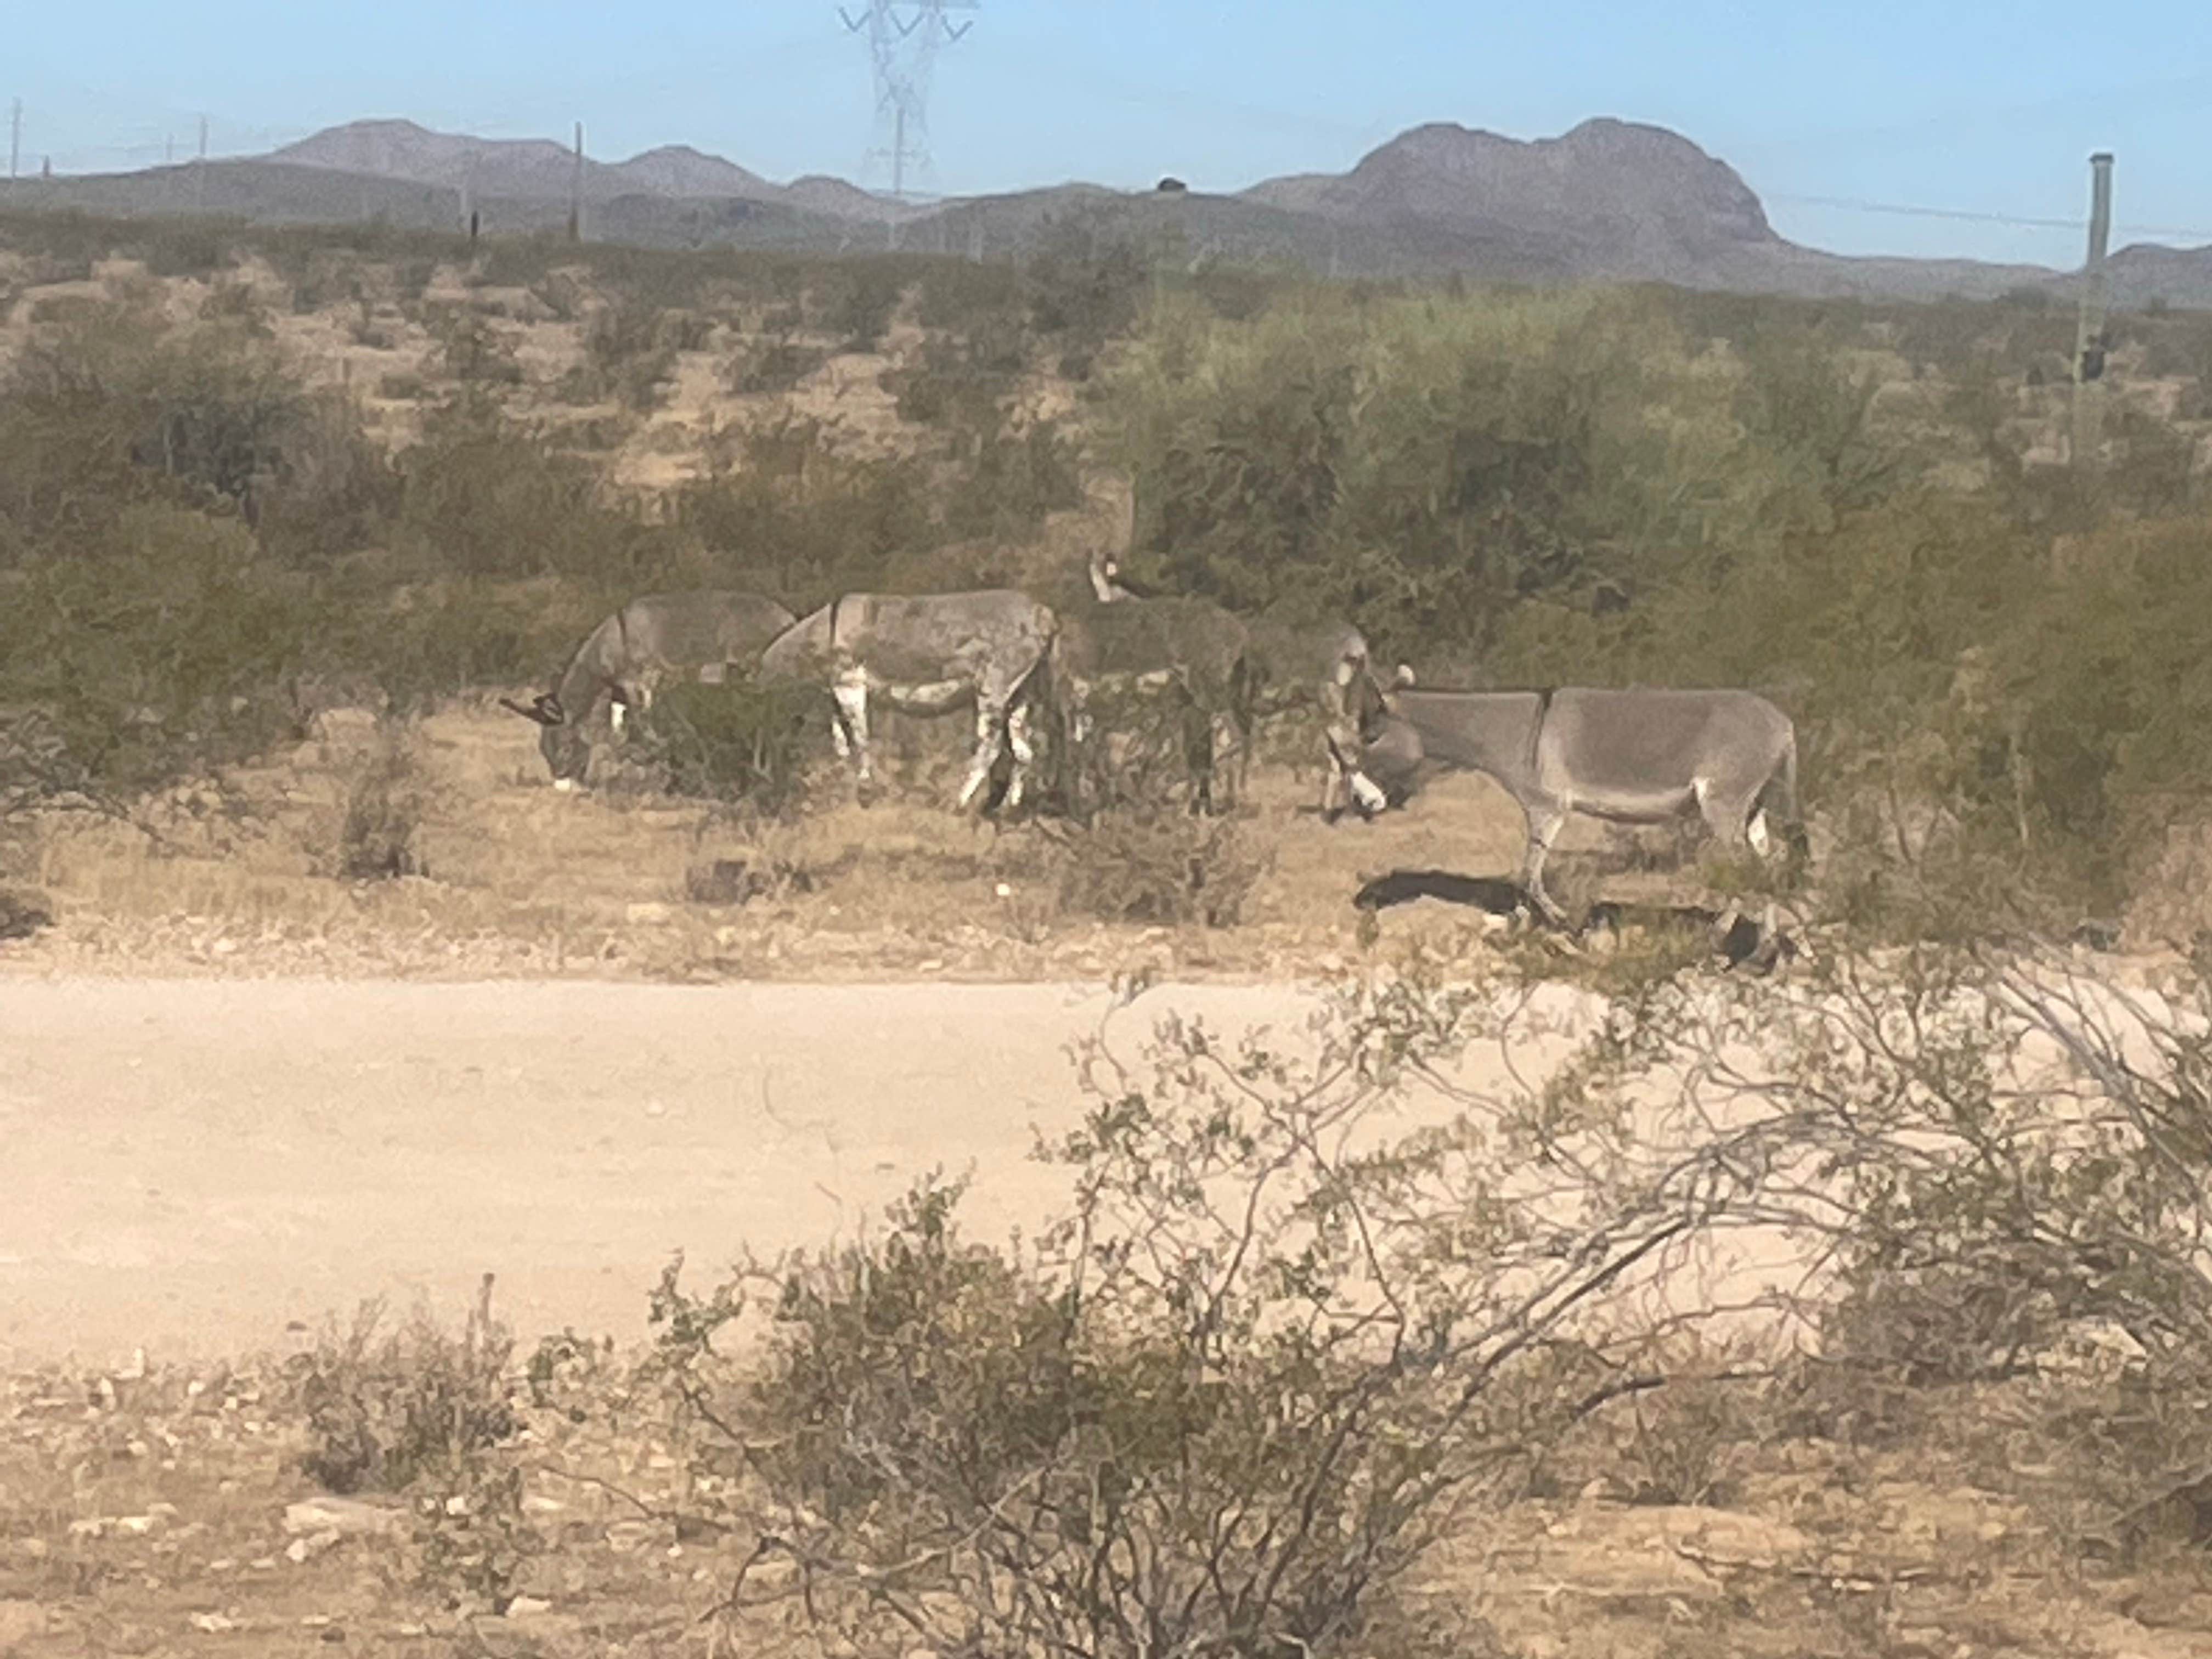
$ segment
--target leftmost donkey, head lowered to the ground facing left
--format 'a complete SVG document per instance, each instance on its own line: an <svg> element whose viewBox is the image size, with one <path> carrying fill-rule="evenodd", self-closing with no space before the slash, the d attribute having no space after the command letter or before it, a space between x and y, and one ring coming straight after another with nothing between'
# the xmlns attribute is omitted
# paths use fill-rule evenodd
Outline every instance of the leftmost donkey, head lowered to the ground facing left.
<svg viewBox="0 0 2212 1659"><path fill-rule="evenodd" d="M624 714L648 710L666 675L719 684L732 664L752 666L790 626L792 613L759 593L648 593L584 635L553 690L526 708L511 697L500 706L538 721L538 750L553 770L553 787L573 790L591 768L591 732L602 708L608 732L619 737Z"/></svg>

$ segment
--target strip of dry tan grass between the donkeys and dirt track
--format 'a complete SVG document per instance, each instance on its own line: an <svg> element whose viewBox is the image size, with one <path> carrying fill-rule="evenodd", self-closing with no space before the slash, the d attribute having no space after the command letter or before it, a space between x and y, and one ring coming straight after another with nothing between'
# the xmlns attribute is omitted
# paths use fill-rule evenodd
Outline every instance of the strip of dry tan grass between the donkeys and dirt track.
<svg viewBox="0 0 2212 1659"><path fill-rule="evenodd" d="M1444 779L1380 823L1325 825L1318 768L1256 765L1237 823L1261 874L1232 927L1108 925L1062 902L1044 827L951 810L964 721L885 721L889 794L860 807L827 754L816 805L745 827L699 803L551 787L535 730L498 708L422 721L416 852L431 876L330 874L347 781L374 723L338 712L325 737L246 772L241 823L161 821L161 843L82 818L44 825L35 880L55 927L0 945L22 971L314 971L624 978L1106 978L1146 964L1225 978L1332 973L1363 947L1352 894L1387 869L1509 874L1520 814L1486 781ZM1573 894L1604 832L1575 825L1557 860ZM695 898L699 869L774 878L743 902ZM1608 894L1668 878L1604 876ZM1480 916L1385 911L1391 940L1467 947ZM1374 922L1371 922L1374 925ZM1374 936L1369 933L1369 942Z"/></svg>

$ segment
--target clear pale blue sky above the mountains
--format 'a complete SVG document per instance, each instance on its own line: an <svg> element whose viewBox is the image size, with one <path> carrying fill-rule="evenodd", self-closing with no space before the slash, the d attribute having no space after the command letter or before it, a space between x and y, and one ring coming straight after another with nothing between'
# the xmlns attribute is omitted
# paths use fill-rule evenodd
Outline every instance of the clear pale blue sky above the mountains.
<svg viewBox="0 0 2212 1659"><path fill-rule="evenodd" d="M856 0L847 0L856 4ZM0 100L24 170L243 155L363 115L562 137L622 159L695 144L772 179L854 177L867 49L834 0L657 7L11 7ZM1776 228L1840 252L2073 265L2081 232L1809 199L2077 221L2088 153L2117 153L2115 246L2212 243L2212 4L2115 0L982 0L936 69L936 186L1177 173L1234 190L1343 170L1418 122L1546 137L1657 122L1730 161ZM2150 234L2179 232L2179 234Z"/></svg>

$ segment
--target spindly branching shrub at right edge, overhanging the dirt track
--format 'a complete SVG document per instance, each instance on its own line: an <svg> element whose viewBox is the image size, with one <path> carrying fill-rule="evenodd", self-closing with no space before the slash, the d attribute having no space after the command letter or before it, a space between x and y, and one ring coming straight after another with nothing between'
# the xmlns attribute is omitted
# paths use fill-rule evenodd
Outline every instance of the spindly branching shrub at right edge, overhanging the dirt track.
<svg viewBox="0 0 2212 1659"><path fill-rule="evenodd" d="M2208 984L2199 962L2143 998L2031 936L1845 947L1787 989L1617 1004L1577 1113L1601 1124L1639 1093L1641 1146L1601 1137L1619 1172L1710 1124L1770 1170L1770 1223L1820 1263L1798 1303L1820 1334L1807 1422L1896 1431L1916 1396L2064 1378L2101 1345L2132 1356L2130 1394L2166 1400L2170 1471L2212 1451L2174 1409L2203 1398L2212 1329ZM2126 1511L2152 1473L2099 1480Z"/></svg>

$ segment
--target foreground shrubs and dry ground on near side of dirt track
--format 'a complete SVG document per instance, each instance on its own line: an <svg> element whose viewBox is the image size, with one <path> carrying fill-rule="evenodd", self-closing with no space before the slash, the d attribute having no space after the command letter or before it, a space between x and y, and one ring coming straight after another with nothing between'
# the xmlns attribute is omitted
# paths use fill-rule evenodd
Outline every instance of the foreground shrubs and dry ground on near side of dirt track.
<svg viewBox="0 0 2212 1659"><path fill-rule="evenodd" d="M2201 971L1920 947L1559 1000L1537 967L1416 953L1274 1035L1121 1004L1037 1148L1048 1225L978 1237L925 1179L823 1250L672 1261L644 1352L518 1340L487 1281L281 1365L20 1378L7 1635L2190 1641Z"/></svg>

